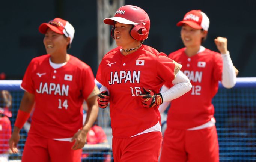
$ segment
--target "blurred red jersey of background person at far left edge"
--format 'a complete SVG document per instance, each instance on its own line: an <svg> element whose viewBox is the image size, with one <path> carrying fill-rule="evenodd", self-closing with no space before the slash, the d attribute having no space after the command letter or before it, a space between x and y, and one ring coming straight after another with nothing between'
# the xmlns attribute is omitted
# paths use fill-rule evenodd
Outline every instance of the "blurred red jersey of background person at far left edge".
<svg viewBox="0 0 256 162"><path fill-rule="evenodd" d="M8 117L4 116L0 118L0 154L8 153L9 144L8 141L11 137L12 127Z"/></svg>

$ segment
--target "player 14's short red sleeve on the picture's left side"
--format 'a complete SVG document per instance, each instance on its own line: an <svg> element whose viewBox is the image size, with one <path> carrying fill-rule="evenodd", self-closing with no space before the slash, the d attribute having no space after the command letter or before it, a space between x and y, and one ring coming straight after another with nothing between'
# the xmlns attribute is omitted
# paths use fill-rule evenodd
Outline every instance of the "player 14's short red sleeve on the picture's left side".
<svg viewBox="0 0 256 162"><path fill-rule="evenodd" d="M33 62L33 60L29 63L29 66L26 69L26 72L24 74L22 83L21 83L21 88L24 89L25 91L29 92L29 93L35 93L35 89L34 89L34 82L32 80L32 74L34 71L34 66L35 63Z"/></svg>

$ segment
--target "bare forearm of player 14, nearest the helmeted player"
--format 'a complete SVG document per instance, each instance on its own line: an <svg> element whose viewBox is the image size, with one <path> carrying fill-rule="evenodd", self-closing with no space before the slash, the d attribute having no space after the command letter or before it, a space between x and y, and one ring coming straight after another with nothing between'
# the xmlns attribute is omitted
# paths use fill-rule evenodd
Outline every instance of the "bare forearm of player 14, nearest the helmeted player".
<svg viewBox="0 0 256 162"><path fill-rule="evenodd" d="M88 111L86 115L86 121L83 125L82 130L85 132L88 132L90 127L92 127L93 123L97 119L99 107L96 100L97 96L93 96L92 98L88 99L87 105L88 105Z"/></svg>

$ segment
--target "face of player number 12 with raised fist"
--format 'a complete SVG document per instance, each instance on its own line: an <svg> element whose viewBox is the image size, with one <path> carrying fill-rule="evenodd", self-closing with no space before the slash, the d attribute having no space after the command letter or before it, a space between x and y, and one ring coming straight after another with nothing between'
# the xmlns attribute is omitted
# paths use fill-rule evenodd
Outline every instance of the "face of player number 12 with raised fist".
<svg viewBox="0 0 256 162"><path fill-rule="evenodd" d="M194 29L187 24L181 27L181 39L187 48L199 47L203 37L206 37L207 31Z"/></svg>

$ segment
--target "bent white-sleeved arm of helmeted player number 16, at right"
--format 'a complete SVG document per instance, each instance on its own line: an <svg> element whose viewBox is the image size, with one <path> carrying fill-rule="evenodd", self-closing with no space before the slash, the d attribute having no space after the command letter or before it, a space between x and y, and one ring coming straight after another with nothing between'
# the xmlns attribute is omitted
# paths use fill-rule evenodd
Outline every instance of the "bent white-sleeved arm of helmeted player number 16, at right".
<svg viewBox="0 0 256 162"><path fill-rule="evenodd" d="M190 91L192 85L188 77L179 71L176 74L176 78L172 81L174 84L170 89L166 90L165 92L161 92L163 96L163 102L171 101L176 99L188 91Z"/></svg>

